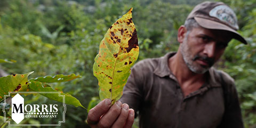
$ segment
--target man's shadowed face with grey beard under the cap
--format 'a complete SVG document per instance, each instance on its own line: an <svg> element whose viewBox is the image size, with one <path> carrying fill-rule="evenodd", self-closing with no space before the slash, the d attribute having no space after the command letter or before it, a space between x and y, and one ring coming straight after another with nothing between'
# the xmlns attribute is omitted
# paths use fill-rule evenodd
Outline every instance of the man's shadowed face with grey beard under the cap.
<svg viewBox="0 0 256 128"><path fill-rule="evenodd" d="M181 43L181 54L188 68L204 74L226 49L231 34L224 30L193 28Z"/></svg>

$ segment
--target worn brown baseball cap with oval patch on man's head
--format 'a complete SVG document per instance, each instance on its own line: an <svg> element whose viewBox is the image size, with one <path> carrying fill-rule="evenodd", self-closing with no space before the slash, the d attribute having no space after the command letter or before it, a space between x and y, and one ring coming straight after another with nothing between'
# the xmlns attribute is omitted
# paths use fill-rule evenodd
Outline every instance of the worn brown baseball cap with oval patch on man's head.
<svg viewBox="0 0 256 128"><path fill-rule="evenodd" d="M223 2L203 2L195 6L187 17L194 18L203 28L227 30L233 33L235 39L247 44L237 30L237 18L234 11Z"/></svg>

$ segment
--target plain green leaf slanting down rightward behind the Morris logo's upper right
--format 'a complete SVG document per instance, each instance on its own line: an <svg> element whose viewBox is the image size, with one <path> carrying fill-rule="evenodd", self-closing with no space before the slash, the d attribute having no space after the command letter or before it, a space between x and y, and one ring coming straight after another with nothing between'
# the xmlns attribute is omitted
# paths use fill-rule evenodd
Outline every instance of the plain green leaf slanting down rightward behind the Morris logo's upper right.
<svg viewBox="0 0 256 128"><path fill-rule="evenodd" d="M38 93L40 92L60 92L57 90L52 89L52 87L46 86L43 87L43 84L41 82L36 82L36 81L31 81L31 83L29 84L30 90L36 91ZM59 97L59 95L54 94L54 93L40 93L42 95L44 95L45 97L58 101L58 102L63 102L63 98ZM75 107L83 107L80 103L79 100L77 100L76 98L74 98L72 95L70 94L65 94L63 92L61 92L61 95L65 95L65 103L69 104L69 105L74 105ZM83 107L84 108L84 107Z"/></svg>

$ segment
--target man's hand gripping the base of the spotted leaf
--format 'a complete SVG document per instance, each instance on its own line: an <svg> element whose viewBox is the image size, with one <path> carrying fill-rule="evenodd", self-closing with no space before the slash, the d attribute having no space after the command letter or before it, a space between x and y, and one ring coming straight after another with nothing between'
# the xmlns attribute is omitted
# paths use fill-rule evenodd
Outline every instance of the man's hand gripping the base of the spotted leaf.
<svg viewBox="0 0 256 128"><path fill-rule="evenodd" d="M126 103L117 101L111 106L111 100L105 99L89 111L87 123L91 127L132 127L134 110Z"/></svg>

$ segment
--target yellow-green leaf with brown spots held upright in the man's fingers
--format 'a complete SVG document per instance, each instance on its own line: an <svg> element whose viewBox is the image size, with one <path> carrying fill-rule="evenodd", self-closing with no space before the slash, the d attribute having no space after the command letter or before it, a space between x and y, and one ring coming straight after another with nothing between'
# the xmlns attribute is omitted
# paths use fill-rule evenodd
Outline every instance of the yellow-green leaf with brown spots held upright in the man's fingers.
<svg viewBox="0 0 256 128"><path fill-rule="evenodd" d="M101 100L109 98L114 103L121 98L130 68L138 55L138 38L131 8L108 29L94 59L93 74L99 81Z"/></svg>

